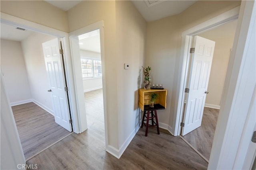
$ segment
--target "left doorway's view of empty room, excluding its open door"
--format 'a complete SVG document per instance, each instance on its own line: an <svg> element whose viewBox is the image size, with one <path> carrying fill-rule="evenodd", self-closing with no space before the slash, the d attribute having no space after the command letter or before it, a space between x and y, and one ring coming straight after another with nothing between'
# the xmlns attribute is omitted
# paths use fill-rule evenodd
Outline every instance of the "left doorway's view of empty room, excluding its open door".
<svg viewBox="0 0 256 170"><path fill-rule="evenodd" d="M29 160L72 133L55 123L48 92L42 43L56 36L17 26L1 22L1 68L24 156Z"/></svg>

